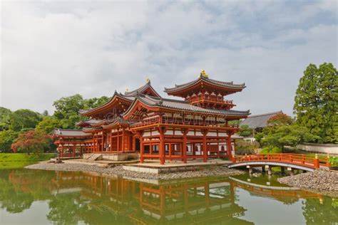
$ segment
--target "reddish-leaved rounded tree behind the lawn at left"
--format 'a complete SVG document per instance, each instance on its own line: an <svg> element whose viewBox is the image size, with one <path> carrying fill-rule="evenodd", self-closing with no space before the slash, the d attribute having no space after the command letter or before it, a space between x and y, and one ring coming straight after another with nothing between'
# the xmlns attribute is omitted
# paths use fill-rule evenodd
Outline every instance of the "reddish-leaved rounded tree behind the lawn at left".
<svg viewBox="0 0 338 225"><path fill-rule="evenodd" d="M49 146L51 137L44 132L29 130L19 134L19 137L14 140L11 149L14 152L34 152L38 154Z"/></svg>

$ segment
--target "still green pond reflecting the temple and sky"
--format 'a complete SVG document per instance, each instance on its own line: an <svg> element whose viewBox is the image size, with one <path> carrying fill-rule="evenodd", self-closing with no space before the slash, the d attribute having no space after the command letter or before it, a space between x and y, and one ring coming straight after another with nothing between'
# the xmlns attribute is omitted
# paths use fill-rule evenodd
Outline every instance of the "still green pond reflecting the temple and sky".
<svg viewBox="0 0 338 225"><path fill-rule="evenodd" d="M276 179L149 184L91 172L0 170L0 224L337 224L337 199Z"/></svg>

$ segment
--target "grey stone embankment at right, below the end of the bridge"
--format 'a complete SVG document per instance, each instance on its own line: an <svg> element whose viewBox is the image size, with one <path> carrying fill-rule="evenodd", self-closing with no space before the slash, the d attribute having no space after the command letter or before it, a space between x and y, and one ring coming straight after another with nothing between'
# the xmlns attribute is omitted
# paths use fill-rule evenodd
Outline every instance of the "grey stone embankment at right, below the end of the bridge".
<svg viewBox="0 0 338 225"><path fill-rule="evenodd" d="M297 174L291 177L277 179L282 184L287 184L301 189L317 189L320 191L338 192L338 172L318 169L314 172Z"/></svg>

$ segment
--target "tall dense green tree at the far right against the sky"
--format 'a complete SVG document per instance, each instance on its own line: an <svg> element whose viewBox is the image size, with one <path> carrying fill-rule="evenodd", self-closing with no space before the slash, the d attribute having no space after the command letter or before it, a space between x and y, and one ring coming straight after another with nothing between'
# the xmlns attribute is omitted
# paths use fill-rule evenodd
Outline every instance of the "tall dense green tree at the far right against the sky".
<svg viewBox="0 0 338 225"><path fill-rule="evenodd" d="M338 142L338 72L332 63L307 66L299 80L294 110L297 124L321 137L319 142Z"/></svg>

